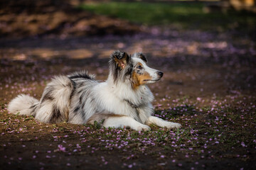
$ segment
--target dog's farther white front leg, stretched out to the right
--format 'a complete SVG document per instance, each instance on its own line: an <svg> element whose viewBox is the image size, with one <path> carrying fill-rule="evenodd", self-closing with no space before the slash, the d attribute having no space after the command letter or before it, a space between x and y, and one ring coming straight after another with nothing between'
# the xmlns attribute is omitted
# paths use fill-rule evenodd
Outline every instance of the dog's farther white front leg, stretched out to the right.
<svg viewBox="0 0 256 170"><path fill-rule="evenodd" d="M172 123L166 120L162 120L161 118L157 118L155 116L149 116L148 120L146 120L146 125L155 124L162 128L181 128L181 124L179 123Z"/></svg>

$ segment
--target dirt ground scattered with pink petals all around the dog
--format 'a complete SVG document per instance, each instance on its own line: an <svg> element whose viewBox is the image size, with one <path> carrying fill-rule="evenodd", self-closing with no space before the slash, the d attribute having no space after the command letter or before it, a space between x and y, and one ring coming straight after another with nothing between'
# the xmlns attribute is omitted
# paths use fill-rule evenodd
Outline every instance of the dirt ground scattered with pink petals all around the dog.
<svg viewBox="0 0 256 170"><path fill-rule="evenodd" d="M125 35L74 36L60 29L0 38L1 169L256 168L255 42L226 32L131 27ZM181 129L43 124L8 113L11 98L39 99L56 74L86 69L107 79L108 59L117 49L142 51L150 67L164 72L149 86L155 115Z"/></svg>

